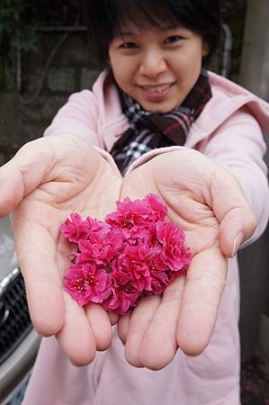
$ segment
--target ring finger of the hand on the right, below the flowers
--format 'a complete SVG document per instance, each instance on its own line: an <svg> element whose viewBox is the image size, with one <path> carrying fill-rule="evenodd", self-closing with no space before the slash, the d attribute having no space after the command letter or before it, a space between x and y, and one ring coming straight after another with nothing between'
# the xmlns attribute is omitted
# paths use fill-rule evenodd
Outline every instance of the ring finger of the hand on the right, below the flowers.
<svg viewBox="0 0 269 405"><path fill-rule="evenodd" d="M160 297L150 296L140 300L138 306L132 311L130 328L125 346L125 357L130 365L143 367L140 361L140 348L148 326L160 303Z"/></svg>

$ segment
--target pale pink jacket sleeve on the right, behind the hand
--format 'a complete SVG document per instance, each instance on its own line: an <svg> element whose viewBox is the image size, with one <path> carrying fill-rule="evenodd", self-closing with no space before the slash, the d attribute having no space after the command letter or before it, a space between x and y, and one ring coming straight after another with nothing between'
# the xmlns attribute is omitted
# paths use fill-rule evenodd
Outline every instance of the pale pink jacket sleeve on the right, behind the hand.
<svg viewBox="0 0 269 405"><path fill-rule="evenodd" d="M247 108L239 110L205 139L199 150L238 179L256 215L257 229L246 245L254 242L265 230L269 215L266 144L258 122Z"/></svg>

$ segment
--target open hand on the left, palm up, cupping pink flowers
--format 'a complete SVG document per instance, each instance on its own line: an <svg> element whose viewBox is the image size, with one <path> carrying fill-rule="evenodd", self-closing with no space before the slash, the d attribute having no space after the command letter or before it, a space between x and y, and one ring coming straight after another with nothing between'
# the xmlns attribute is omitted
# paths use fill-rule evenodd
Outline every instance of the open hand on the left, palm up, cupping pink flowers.
<svg viewBox="0 0 269 405"><path fill-rule="evenodd" d="M74 364L87 364L109 347L111 322L101 306L81 308L63 291L71 247L59 227L72 211L103 219L114 210L121 175L85 141L59 136L25 145L1 177L2 215L18 203L12 222L31 320L41 335L57 335Z"/></svg>

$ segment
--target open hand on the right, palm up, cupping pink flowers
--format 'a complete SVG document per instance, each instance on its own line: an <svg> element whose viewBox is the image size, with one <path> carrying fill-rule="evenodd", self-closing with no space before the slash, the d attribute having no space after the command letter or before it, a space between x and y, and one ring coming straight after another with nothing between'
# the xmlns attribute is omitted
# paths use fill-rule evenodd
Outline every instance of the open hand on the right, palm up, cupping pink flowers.
<svg viewBox="0 0 269 405"><path fill-rule="evenodd" d="M193 260L162 297L147 297L118 322L131 365L159 369L177 347L198 355L208 345L225 287L228 257L256 228L233 175L208 157L181 149L155 157L124 179L121 198L158 193L169 220L185 231Z"/></svg>

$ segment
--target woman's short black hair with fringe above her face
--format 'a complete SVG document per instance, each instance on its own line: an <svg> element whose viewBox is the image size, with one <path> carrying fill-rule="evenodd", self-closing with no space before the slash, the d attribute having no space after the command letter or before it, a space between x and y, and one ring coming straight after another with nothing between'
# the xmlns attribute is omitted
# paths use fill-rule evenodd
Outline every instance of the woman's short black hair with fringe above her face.
<svg viewBox="0 0 269 405"><path fill-rule="evenodd" d="M85 19L92 55L102 67L108 63L110 43L128 23L158 28L168 22L200 34L209 48L203 65L220 40L219 0L85 0Z"/></svg>

